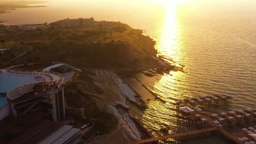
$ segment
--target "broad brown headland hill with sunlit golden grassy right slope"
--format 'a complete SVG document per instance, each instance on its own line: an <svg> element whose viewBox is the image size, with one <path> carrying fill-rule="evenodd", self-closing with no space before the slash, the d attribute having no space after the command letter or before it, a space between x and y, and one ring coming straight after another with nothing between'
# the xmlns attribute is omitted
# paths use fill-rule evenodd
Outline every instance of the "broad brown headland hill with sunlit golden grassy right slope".
<svg viewBox="0 0 256 144"><path fill-rule="evenodd" d="M78 67L148 68L158 65L155 41L120 22L95 22L88 28L58 28L8 32L8 41L33 45L16 63L65 62Z"/></svg>

